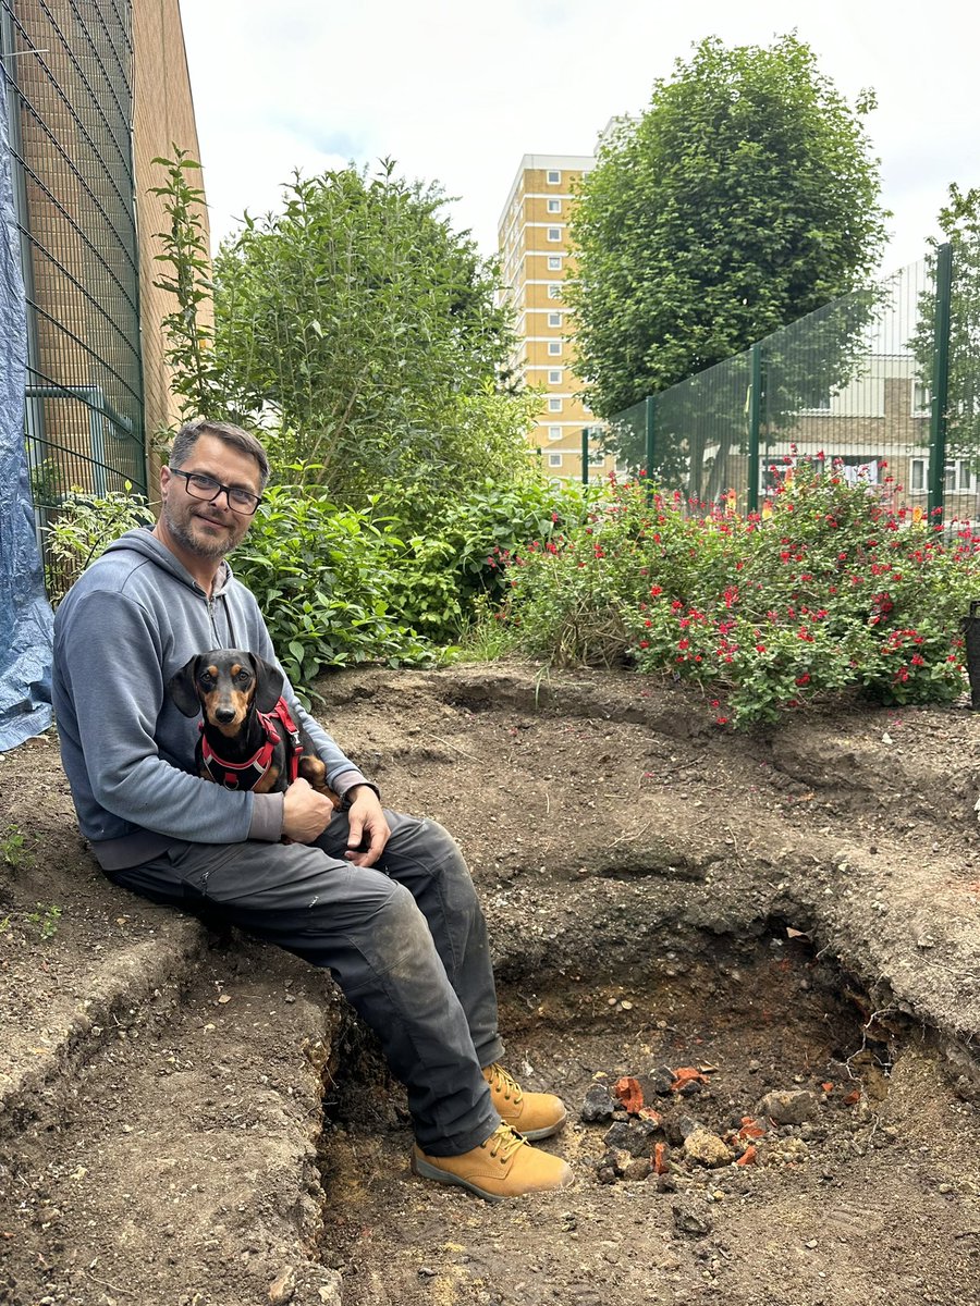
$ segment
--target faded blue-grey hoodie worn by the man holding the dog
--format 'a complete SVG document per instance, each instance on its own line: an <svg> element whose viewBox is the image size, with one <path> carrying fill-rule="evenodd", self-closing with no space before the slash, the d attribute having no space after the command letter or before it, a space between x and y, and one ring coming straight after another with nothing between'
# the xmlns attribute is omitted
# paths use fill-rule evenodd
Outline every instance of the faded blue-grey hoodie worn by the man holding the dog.
<svg viewBox="0 0 980 1306"><path fill-rule="evenodd" d="M82 833L107 871L170 844L278 840L282 794L235 793L195 772L197 722L166 692L196 653L242 648L276 662L255 598L225 564L209 599L148 529L108 546L55 614L54 703L61 761ZM344 797L365 777L299 705L284 696Z"/></svg>

